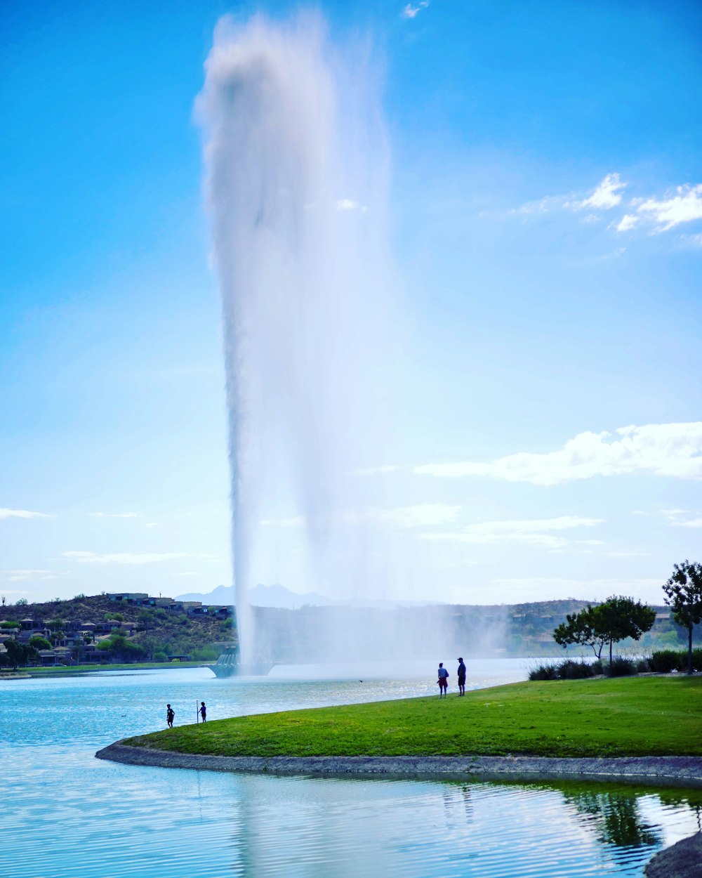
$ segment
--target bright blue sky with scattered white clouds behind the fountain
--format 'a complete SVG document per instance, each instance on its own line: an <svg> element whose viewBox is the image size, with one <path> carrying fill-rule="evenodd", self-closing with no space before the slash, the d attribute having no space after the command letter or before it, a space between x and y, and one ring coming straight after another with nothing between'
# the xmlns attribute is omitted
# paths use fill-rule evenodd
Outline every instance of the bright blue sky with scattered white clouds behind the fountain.
<svg viewBox="0 0 702 878"><path fill-rule="evenodd" d="M193 104L218 18L259 10L297 5L4 4L10 601L231 580ZM384 77L405 341L359 478L388 594L660 602L702 534L702 10L319 10L332 40L370 37ZM278 529L261 581L336 594L286 563L299 540Z"/></svg>

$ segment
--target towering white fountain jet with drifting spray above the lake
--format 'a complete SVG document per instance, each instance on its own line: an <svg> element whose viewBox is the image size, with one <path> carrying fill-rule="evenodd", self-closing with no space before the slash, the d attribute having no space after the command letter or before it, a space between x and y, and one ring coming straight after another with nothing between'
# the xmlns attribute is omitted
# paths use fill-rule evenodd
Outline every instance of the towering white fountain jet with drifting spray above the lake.
<svg viewBox="0 0 702 878"><path fill-rule="evenodd" d="M334 49L316 15L223 19L198 111L221 290L241 658L262 515L293 510L304 581L355 517L377 435L389 274L383 125L368 53ZM258 553L258 556L257 556ZM323 572L324 571L324 572ZM326 583L319 579L326 578Z"/></svg>

